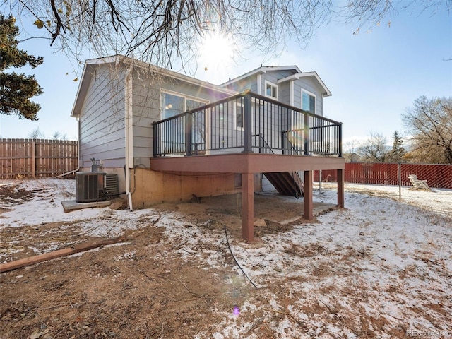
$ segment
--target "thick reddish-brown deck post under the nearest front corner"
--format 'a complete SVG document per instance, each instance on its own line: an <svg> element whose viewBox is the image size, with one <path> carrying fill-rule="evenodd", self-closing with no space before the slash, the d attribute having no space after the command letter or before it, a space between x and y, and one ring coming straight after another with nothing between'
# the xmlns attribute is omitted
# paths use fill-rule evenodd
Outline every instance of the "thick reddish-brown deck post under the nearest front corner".
<svg viewBox="0 0 452 339"><path fill-rule="evenodd" d="M254 241L254 174L242 173L242 237Z"/></svg>

